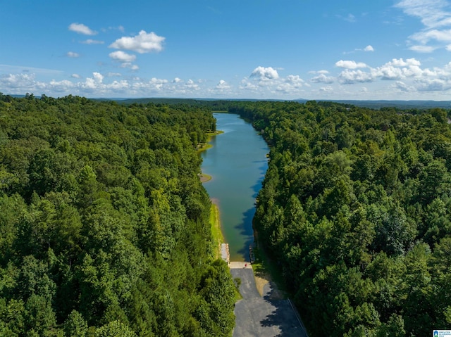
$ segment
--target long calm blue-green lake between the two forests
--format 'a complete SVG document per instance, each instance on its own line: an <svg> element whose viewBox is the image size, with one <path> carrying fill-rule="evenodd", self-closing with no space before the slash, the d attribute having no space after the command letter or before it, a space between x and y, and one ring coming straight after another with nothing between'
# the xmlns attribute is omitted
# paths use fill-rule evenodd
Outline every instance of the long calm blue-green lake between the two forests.
<svg viewBox="0 0 451 337"><path fill-rule="evenodd" d="M202 152L202 172L213 177L204 187L219 207L230 260L249 260L249 245L254 242L254 203L268 168L269 149L240 116L215 113L214 117L216 129L224 133L214 136L210 142L213 147Z"/></svg>

